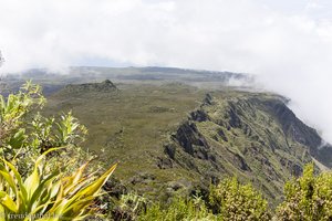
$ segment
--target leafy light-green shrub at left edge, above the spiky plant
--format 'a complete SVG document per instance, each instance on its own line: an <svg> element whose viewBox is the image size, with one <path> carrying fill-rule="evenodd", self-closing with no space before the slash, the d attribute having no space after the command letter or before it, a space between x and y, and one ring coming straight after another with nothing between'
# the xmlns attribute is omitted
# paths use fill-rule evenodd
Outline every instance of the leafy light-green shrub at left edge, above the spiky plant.
<svg viewBox="0 0 332 221"><path fill-rule="evenodd" d="M39 110L44 103L41 87L31 82L15 94L7 97L0 95L0 155L12 164L20 165L21 173L27 173L28 168L32 168L31 158L38 158L51 148L65 147L61 150L69 151L64 155L68 158L62 156L55 161L65 162L83 155L79 146L85 138L85 127L79 124L71 112L59 119L43 117Z"/></svg>

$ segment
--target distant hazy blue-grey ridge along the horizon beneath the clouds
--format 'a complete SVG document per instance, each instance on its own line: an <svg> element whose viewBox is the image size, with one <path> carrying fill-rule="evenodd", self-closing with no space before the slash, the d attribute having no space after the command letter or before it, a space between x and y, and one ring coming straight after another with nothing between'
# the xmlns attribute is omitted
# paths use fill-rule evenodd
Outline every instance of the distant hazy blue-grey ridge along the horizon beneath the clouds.
<svg viewBox="0 0 332 221"><path fill-rule="evenodd" d="M76 66L69 67L62 73L49 72L43 69L28 70L20 74L9 74L3 81L33 80L37 83L50 85L83 84L111 80L116 82L184 82L184 83L217 83L226 85L229 81L237 80L243 83L253 81L248 74L231 72L212 72L185 70L176 67L93 67Z"/></svg>

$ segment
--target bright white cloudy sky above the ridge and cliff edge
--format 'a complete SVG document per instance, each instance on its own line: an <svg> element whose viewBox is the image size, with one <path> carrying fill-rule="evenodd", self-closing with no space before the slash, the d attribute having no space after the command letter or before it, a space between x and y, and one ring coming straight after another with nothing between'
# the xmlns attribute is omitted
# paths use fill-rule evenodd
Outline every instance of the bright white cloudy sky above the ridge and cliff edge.
<svg viewBox="0 0 332 221"><path fill-rule="evenodd" d="M257 75L332 143L331 0L0 0L0 72L177 66Z"/></svg>

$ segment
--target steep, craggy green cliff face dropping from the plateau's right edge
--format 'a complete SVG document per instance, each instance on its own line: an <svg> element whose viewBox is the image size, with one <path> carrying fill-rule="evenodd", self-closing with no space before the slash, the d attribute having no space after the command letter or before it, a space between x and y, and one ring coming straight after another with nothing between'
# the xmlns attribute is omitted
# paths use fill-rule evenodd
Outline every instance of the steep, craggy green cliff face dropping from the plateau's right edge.
<svg viewBox="0 0 332 221"><path fill-rule="evenodd" d="M204 181L237 176L278 201L284 181L300 176L304 164L315 159L331 167L332 148L321 144L318 133L297 118L283 98L220 92L208 94L189 114L165 152Z"/></svg>

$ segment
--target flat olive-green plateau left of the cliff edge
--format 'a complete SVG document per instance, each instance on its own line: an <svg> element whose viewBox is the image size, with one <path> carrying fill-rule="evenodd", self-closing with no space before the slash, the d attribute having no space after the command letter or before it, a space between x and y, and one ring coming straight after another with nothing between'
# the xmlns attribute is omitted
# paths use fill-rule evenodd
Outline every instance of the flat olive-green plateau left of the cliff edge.
<svg viewBox="0 0 332 221"><path fill-rule="evenodd" d="M166 191L158 193L167 188L165 183L170 186L181 177L193 180L195 175L183 168L160 169L164 144L205 92L178 84L117 85L117 88L118 92L106 93L60 91L48 97L42 113L53 116L72 110L89 128L85 150L106 165L120 161L114 176L129 189L149 199L167 198Z"/></svg>

